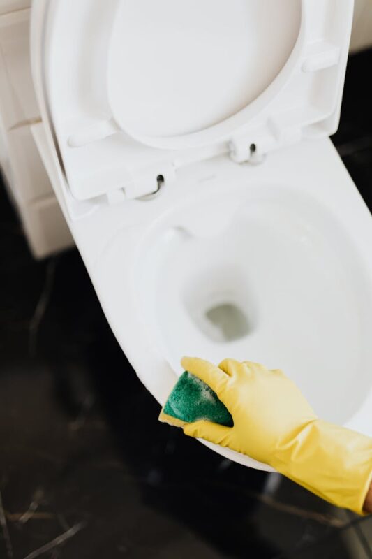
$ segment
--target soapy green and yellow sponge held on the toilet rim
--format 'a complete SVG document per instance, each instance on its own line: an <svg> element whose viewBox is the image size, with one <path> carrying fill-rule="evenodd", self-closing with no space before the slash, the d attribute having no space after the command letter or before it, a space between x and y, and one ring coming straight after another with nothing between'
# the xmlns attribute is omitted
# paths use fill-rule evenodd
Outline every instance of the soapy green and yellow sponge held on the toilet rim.
<svg viewBox="0 0 372 559"><path fill-rule="evenodd" d="M226 427L232 427L234 424L230 412L221 400L218 400L216 393L188 371L179 377L161 410L159 419L176 426L183 426L198 419L207 419Z"/></svg>

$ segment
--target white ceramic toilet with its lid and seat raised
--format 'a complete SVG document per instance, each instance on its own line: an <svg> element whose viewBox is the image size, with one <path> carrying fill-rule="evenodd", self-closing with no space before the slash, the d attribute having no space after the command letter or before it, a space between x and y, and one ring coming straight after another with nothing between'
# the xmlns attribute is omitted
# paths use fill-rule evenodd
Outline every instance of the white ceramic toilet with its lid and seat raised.
<svg viewBox="0 0 372 559"><path fill-rule="evenodd" d="M282 368L319 416L372 436L372 219L329 139L352 8L32 4L31 133L160 404L181 356L231 356Z"/></svg>

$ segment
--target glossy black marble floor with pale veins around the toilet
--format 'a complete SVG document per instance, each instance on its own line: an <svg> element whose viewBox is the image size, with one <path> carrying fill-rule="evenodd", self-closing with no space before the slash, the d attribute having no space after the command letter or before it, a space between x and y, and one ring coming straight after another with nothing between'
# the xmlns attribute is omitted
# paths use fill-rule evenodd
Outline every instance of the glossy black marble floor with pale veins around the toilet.
<svg viewBox="0 0 372 559"><path fill-rule="evenodd" d="M372 207L372 52L334 136ZM0 558L372 558L372 518L158 423L76 251L34 261L1 190Z"/></svg>

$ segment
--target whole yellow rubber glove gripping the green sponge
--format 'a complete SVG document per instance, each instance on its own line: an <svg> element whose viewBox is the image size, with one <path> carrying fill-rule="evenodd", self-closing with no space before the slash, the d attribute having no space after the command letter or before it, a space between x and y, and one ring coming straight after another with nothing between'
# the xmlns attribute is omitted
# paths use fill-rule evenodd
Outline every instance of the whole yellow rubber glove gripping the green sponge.
<svg viewBox="0 0 372 559"><path fill-rule="evenodd" d="M281 370L233 359L218 367L190 357L181 363L209 384L234 420L233 427L188 423L186 435L265 462L319 497L363 514L372 481L372 439L318 419Z"/></svg>

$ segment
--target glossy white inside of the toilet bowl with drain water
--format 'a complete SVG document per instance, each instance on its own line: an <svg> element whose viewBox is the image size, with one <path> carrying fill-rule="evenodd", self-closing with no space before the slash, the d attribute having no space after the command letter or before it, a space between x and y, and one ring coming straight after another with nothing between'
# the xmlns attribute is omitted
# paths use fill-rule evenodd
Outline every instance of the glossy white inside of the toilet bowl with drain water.
<svg viewBox="0 0 372 559"><path fill-rule="evenodd" d="M174 370L184 354L282 368L320 416L345 423L371 384L372 300L357 249L307 195L261 185L234 198L204 206L213 221L225 203L222 229L203 235L199 202L151 231L135 268L146 323Z"/></svg>

